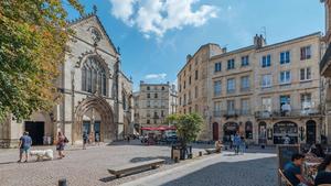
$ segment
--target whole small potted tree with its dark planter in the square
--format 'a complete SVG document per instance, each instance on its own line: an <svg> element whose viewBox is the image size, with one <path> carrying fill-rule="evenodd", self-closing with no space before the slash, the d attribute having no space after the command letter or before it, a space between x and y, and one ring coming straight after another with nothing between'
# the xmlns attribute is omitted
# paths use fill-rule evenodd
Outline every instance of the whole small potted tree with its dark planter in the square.
<svg viewBox="0 0 331 186"><path fill-rule="evenodd" d="M203 122L202 117L197 113L171 114L167 120L175 127L179 139L179 145L172 146L172 150L180 149L181 160L185 156L192 157L192 146L188 144L196 139Z"/></svg>

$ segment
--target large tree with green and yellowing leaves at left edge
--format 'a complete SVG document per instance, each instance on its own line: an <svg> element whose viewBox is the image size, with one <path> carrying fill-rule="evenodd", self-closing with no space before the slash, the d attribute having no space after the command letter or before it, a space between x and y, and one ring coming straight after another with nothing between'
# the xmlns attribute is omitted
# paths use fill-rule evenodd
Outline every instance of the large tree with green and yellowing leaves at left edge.
<svg viewBox="0 0 331 186"><path fill-rule="evenodd" d="M73 34L64 3L84 11L77 0L0 1L0 121L54 105L55 79Z"/></svg>

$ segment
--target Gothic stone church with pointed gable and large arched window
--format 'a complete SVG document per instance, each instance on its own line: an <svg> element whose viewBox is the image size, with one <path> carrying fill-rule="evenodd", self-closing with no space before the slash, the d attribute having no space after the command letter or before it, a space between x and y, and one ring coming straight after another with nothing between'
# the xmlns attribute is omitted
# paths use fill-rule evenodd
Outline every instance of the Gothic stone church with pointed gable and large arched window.
<svg viewBox="0 0 331 186"><path fill-rule="evenodd" d="M61 100L52 111L39 111L17 122L0 124L0 146L18 145L23 131L34 144L53 143L62 131L71 144L82 143L83 132L102 142L122 139L134 120L132 81L120 68L115 47L96 12L70 23L75 35L56 80Z"/></svg>

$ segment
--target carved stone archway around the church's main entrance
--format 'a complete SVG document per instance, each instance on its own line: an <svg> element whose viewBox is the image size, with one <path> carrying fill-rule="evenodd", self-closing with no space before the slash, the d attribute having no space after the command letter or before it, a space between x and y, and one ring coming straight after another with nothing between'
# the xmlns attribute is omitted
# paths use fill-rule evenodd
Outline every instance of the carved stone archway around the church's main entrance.
<svg viewBox="0 0 331 186"><path fill-rule="evenodd" d="M116 139L117 125L114 122L114 112L110 105L103 97L87 97L75 111L75 123L73 124L73 143L82 141L83 116L89 109L95 109L102 118L100 141L110 142Z"/></svg>

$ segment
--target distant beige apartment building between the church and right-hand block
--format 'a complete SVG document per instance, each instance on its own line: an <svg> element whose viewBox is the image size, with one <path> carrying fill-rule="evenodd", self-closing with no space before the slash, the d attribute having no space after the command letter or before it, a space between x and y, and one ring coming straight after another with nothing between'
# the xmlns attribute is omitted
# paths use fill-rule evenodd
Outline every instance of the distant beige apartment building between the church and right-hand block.
<svg viewBox="0 0 331 186"><path fill-rule="evenodd" d="M169 114L177 112L174 85L140 81L139 92L134 94L135 123L142 127L161 127Z"/></svg>

